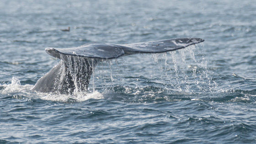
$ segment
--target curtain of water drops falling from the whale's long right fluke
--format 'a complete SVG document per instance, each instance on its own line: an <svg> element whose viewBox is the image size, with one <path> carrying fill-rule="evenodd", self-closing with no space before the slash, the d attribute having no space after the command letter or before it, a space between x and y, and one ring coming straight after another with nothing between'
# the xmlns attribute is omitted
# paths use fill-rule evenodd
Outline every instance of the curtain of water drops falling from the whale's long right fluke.
<svg viewBox="0 0 256 144"><path fill-rule="evenodd" d="M199 52L199 54L195 55ZM143 90L150 85L146 82L148 80L155 81L157 86L163 90L172 93L186 92L186 93L202 93L211 92L216 87L215 82L209 74L207 61L204 59L201 48L190 46L178 51L167 53L151 54L153 60L150 62L148 54L139 55L138 66L129 64L123 59L104 60L97 64L96 67L96 81L91 78L91 83L101 83L101 87L97 91L111 90L120 93L136 95L148 95L147 91ZM148 68L143 68L144 63L152 63ZM134 63L134 62L133 62ZM134 65L134 67L133 67ZM157 66L157 69L156 67ZM140 68L141 67L141 68ZM108 70L106 70L108 69ZM136 71L144 71L144 75L136 76L135 73L129 73L130 69L137 69ZM145 69L145 70L143 70ZM126 75L127 77L120 77ZM123 79L131 79L127 80ZM99 81L99 82L98 82ZM135 85L131 85L134 83ZM156 87L156 88L157 88ZM94 85L91 85L95 89ZM103 92L102 91L102 92ZM145 92L145 93L144 93Z"/></svg>

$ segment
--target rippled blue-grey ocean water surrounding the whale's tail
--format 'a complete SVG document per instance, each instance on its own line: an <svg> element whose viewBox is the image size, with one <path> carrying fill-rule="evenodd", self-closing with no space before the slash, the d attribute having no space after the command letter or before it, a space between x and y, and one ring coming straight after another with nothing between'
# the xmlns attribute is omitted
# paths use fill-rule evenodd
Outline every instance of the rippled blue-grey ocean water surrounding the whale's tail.
<svg viewBox="0 0 256 144"><path fill-rule="evenodd" d="M205 42L31 91L59 62L44 48L176 37ZM256 143L255 0L0 0L0 54L0 143Z"/></svg>

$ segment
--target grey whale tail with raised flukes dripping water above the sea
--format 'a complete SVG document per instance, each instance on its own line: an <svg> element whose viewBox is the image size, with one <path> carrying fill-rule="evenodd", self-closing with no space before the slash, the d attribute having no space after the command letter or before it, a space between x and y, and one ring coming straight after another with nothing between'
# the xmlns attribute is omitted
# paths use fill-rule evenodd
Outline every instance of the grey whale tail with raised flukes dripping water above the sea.
<svg viewBox="0 0 256 144"><path fill-rule="evenodd" d="M138 53L166 53L202 42L204 39L192 37L130 44L87 43L75 48L45 48L46 53L60 61L37 80L32 91L59 94L87 91L91 75L102 60Z"/></svg>

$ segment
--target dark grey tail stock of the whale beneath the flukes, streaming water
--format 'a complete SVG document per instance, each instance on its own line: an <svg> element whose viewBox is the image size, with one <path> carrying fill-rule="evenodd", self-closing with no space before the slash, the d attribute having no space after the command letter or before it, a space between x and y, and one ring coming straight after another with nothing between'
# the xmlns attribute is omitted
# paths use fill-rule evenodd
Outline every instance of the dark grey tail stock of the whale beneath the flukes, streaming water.
<svg viewBox="0 0 256 144"><path fill-rule="evenodd" d="M61 60L37 81L32 91L57 92L60 94L72 94L75 88L79 88L77 91L86 91L97 61L73 58L71 57L69 61Z"/></svg>

